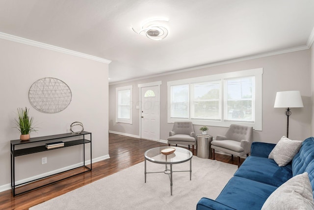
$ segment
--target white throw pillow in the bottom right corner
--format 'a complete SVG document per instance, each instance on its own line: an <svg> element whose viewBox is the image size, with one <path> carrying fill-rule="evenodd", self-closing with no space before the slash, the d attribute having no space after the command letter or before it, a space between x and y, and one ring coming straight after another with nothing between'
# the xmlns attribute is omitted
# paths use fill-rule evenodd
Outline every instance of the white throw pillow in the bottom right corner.
<svg viewBox="0 0 314 210"><path fill-rule="evenodd" d="M292 177L267 198L262 210L313 210L313 190L307 172Z"/></svg>

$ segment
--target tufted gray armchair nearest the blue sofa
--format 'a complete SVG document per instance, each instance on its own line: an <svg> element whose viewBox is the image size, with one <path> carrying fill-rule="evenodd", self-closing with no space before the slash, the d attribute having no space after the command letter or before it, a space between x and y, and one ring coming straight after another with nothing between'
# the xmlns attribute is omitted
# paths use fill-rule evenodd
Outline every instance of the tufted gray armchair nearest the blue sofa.
<svg viewBox="0 0 314 210"><path fill-rule="evenodd" d="M215 159L215 150L220 150L238 157L237 166L240 166L240 156L251 152L253 141L253 127L231 124L226 135L217 135L216 140L211 142L212 157Z"/></svg>

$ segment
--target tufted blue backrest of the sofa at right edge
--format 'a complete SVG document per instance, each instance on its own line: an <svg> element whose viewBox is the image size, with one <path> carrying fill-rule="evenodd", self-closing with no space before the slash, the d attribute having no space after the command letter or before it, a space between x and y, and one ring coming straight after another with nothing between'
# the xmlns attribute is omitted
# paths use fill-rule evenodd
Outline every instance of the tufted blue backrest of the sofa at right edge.
<svg viewBox="0 0 314 210"><path fill-rule="evenodd" d="M314 138L304 140L299 152L292 159L293 177L307 172L314 190ZM314 191L313 191L314 193Z"/></svg>

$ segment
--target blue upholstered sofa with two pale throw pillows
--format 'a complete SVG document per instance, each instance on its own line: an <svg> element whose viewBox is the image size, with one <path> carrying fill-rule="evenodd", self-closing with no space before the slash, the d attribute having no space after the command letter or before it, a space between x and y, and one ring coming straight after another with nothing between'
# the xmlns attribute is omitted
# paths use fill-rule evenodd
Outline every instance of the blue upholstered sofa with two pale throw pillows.
<svg viewBox="0 0 314 210"><path fill-rule="evenodd" d="M268 159L274 147L275 144L253 142L251 156L246 158L216 200L202 198L196 209L260 210L273 191L304 172L308 172L314 189L314 138L306 139L292 161L283 167Z"/></svg>

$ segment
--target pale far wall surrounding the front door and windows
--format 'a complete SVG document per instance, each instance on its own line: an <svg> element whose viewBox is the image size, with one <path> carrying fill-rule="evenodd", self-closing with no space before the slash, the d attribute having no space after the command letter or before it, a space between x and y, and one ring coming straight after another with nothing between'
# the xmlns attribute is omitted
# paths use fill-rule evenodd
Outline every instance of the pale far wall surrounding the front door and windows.
<svg viewBox="0 0 314 210"><path fill-rule="evenodd" d="M120 84L109 84L109 130L139 136L138 84L162 81L160 86L160 139L166 140L173 124L167 123L167 82L202 75L219 74L246 69L263 68L262 131L254 131L254 141L277 143L287 133L285 109L274 108L277 91L300 90L304 108L292 108L289 118L289 138L304 140L311 135L311 77L310 50L291 52L264 58L211 66L193 71L169 74ZM115 123L115 88L133 85L133 124ZM194 125L201 133L201 125ZM224 134L226 127L209 127L213 136Z"/></svg>

